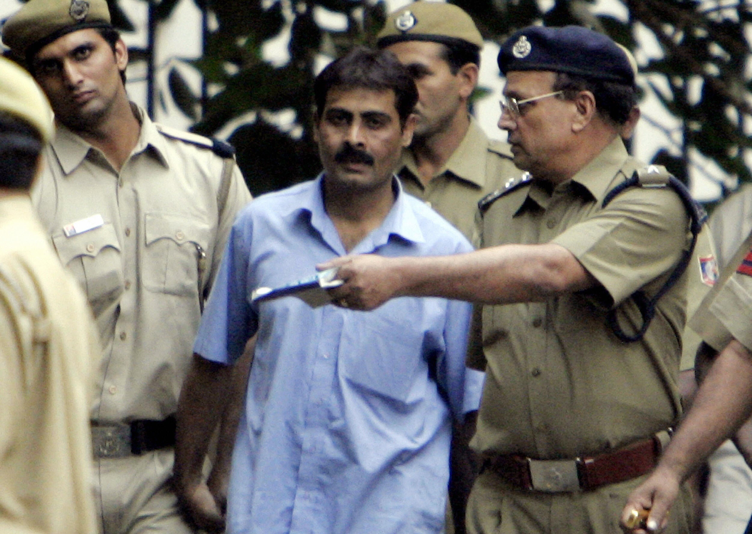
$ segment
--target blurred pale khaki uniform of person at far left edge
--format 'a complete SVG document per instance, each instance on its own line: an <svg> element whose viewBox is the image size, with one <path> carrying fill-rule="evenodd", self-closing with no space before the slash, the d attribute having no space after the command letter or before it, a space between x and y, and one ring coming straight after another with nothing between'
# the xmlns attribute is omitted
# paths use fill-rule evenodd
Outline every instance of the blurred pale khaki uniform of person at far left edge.
<svg viewBox="0 0 752 534"><path fill-rule="evenodd" d="M0 533L96 532L88 413L99 357L86 300L29 197L0 199Z"/></svg>

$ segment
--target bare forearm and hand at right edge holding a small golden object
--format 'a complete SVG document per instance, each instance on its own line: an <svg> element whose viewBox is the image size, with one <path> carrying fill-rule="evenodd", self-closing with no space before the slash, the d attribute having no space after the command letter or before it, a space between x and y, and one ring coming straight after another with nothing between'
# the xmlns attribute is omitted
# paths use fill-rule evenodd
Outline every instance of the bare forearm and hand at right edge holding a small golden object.
<svg viewBox="0 0 752 534"><path fill-rule="evenodd" d="M622 513L625 532L632 510L650 510L647 532L656 532L681 483L752 413L752 353L736 340L721 351L708 371L687 417L679 426L655 471L627 499Z"/></svg>

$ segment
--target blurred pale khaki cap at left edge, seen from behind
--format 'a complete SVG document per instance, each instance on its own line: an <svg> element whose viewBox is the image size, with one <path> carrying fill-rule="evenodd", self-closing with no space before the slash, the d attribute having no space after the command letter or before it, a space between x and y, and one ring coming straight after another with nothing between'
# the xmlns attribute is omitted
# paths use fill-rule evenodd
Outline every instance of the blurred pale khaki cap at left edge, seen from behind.
<svg viewBox="0 0 752 534"><path fill-rule="evenodd" d="M47 98L31 74L4 57L0 57L0 113L28 123L43 141L52 137L53 115Z"/></svg>

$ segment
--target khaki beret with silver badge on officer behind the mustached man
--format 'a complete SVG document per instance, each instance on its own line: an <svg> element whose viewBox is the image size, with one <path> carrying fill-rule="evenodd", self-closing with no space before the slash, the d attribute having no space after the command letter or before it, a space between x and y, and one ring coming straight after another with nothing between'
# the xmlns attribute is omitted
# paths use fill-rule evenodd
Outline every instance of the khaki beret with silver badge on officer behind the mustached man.
<svg viewBox="0 0 752 534"><path fill-rule="evenodd" d="M433 41L449 46L464 41L483 48L483 37L470 15L445 2L414 2L394 11L377 37L379 48L399 41Z"/></svg>

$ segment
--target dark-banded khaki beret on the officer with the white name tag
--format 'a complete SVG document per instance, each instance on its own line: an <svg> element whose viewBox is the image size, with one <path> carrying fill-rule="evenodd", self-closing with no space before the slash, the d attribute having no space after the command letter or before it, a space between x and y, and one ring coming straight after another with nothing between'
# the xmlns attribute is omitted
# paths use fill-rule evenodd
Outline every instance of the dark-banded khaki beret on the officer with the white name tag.
<svg viewBox="0 0 752 534"><path fill-rule="evenodd" d="M29 0L5 22L2 40L29 58L67 33L111 27L106 0Z"/></svg>

